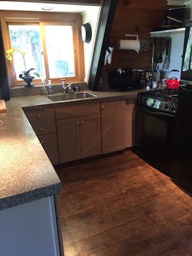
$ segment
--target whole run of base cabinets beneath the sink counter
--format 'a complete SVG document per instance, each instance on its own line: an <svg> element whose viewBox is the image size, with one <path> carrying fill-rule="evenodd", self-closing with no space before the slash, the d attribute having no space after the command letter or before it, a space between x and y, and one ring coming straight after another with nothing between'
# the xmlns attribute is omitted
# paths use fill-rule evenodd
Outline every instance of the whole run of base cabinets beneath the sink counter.
<svg viewBox="0 0 192 256"><path fill-rule="evenodd" d="M132 147L134 98L25 111L53 165Z"/></svg>

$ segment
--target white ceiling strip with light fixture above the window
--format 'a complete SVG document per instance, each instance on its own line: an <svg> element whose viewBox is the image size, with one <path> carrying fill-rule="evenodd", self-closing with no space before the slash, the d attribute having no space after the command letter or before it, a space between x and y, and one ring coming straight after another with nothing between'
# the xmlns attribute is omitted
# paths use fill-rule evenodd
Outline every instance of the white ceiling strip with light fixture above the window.
<svg viewBox="0 0 192 256"><path fill-rule="evenodd" d="M42 10L42 8L52 8L52 10ZM0 10L22 10L22 11L35 11L35 12L91 12L95 6L87 5L59 5L54 3L30 3L19 1L1 1Z"/></svg>

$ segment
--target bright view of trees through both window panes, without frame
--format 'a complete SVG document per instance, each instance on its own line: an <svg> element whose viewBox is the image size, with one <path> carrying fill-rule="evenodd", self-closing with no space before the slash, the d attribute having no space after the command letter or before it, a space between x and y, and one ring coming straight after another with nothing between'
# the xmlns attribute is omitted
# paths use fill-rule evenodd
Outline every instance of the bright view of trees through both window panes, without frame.
<svg viewBox="0 0 192 256"><path fill-rule="evenodd" d="M39 25L9 25L8 28L11 47L25 52L27 69L33 67L43 78L48 73L47 80L75 76L72 26L45 25L44 46ZM14 55L17 80L23 70L22 61L19 54ZM48 67L47 73L45 67Z"/></svg>

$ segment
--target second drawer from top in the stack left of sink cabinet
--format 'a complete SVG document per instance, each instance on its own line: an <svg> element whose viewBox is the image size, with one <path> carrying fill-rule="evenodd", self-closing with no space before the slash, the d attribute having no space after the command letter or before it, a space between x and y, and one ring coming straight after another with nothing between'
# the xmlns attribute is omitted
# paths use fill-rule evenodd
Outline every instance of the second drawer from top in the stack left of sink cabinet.
<svg viewBox="0 0 192 256"><path fill-rule="evenodd" d="M43 122L43 123L34 123L32 125L35 133L38 135L56 133L56 123L54 121Z"/></svg>

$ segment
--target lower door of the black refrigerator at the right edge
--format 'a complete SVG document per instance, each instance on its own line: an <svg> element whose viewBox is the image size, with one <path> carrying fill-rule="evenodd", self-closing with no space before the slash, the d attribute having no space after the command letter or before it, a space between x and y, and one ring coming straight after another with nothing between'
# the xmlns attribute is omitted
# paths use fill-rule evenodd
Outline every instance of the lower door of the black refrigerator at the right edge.
<svg viewBox="0 0 192 256"><path fill-rule="evenodd" d="M171 175L192 193L192 85L179 88Z"/></svg>

